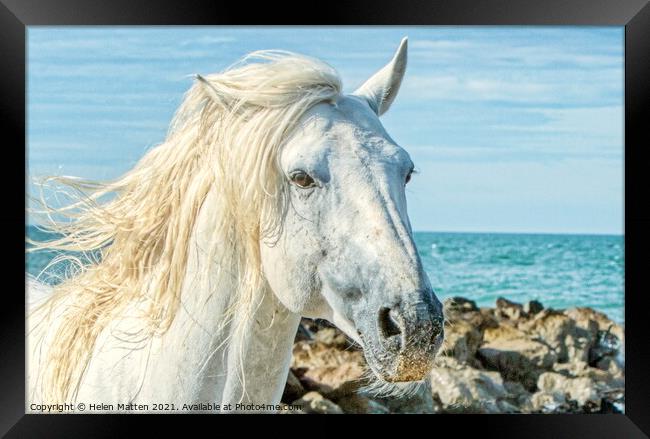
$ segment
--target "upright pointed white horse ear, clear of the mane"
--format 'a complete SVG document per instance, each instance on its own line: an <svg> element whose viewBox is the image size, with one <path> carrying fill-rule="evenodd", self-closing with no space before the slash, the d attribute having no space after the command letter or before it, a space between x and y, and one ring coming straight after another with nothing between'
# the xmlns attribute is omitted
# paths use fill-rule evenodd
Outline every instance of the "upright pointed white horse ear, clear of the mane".
<svg viewBox="0 0 650 439"><path fill-rule="evenodd" d="M406 70L407 43L408 38L404 37L393 59L352 93L368 101L378 116L388 110L397 96Z"/></svg>

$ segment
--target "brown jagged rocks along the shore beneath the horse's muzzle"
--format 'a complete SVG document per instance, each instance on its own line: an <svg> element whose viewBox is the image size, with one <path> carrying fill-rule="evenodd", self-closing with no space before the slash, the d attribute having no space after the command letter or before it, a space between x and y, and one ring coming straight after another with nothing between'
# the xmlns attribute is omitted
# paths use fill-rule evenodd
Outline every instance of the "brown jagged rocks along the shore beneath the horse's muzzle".
<svg viewBox="0 0 650 439"><path fill-rule="evenodd" d="M363 390L362 351L323 321L303 319L282 396L285 413L619 413L623 328L590 308L495 307L445 301L445 343L408 396Z"/></svg>

